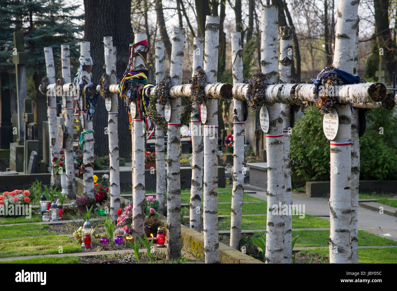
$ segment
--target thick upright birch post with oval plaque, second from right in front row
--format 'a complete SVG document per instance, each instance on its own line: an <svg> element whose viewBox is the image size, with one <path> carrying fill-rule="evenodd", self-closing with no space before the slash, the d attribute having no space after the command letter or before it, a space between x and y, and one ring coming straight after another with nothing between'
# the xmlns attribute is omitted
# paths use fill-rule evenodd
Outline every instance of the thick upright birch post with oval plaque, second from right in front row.
<svg viewBox="0 0 397 291"><path fill-rule="evenodd" d="M277 32L277 6L262 6L261 67L268 84L279 82ZM280 103L268 105L270 126L266 133L268 171L268 209L266 222L266 263L282 263L284 248L284 217L279 209L284 194L283 174L283 119ZM275 213L274 213L275 212Z"/></svg>

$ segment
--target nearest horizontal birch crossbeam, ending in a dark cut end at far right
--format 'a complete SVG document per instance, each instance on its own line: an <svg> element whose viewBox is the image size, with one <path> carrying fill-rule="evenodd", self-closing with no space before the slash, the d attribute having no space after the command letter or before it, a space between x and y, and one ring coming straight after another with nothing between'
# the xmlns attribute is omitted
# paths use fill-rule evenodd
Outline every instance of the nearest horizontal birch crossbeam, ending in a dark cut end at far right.
<svg viewBox="0 0 397 291"><path fill-rule="evenodd" d="M264 103L299 104L314 102L316 87L313 84L276 84L265 89ZM384 108L386 87L382 83L360 83L341 85L336 88L335 96L339 104L351 104L357 108ZM251 93L248 84L238 83L233 87L233 97L247 101Z"/></svg>

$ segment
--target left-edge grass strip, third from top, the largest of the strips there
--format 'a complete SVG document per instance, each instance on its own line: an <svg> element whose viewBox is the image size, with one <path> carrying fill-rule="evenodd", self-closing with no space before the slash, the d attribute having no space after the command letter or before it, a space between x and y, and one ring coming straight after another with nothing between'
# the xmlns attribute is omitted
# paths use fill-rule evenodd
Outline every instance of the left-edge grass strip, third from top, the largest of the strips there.
<svg viewBox="0 0 397 291"><path fill-rule="evenodd" d="M31 238L11 238L0 240L0 257L19 257L29 255L47 255L59 253L79 253L81 246L68 236L44 236Z"/></svg>

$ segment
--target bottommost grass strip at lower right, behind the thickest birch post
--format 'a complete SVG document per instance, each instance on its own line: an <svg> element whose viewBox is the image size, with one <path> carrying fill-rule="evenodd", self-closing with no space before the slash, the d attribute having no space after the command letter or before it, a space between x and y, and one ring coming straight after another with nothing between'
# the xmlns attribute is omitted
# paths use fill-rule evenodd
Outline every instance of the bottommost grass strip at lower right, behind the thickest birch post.
<svg viewBox="0 0 397 291"><path fill-rule="evenodd" d="M360 242L360 240L358 240ZM328 249L310 249L301 253L329 258ZM385 249L358 249L358 263L360 264L395 264L397 263L397 247Z"/></svg>

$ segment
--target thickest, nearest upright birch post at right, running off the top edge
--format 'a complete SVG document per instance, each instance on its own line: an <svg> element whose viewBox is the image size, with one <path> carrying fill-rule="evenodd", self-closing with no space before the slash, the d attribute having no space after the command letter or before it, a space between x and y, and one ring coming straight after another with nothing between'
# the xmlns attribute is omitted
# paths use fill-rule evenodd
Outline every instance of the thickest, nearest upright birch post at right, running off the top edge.
<svg viewBox="0 0 397 291"><path fill-rule="evenodd" d="M358 2L339 0L335 34L335 68L353 73ZM351 108L336 105L339 118L337 135L330 142L330 263L351 263Z"/></svg>

